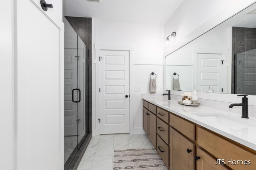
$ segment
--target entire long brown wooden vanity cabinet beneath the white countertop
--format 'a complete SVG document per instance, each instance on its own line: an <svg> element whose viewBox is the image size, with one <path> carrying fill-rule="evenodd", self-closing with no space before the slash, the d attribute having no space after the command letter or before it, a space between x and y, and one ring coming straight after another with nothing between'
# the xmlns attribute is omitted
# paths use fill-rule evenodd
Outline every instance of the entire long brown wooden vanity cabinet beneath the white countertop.
<svg viewBox="0 0 256 170"><path fill-rule="evenodd" d="M169 170L256 170L255 150L144 100L143 129Z"/></svg>

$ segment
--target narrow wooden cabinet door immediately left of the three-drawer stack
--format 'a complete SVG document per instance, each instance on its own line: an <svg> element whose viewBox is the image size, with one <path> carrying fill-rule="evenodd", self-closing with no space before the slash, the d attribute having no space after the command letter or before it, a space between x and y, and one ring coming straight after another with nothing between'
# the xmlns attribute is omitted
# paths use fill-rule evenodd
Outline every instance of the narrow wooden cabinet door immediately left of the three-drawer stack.
<svg viewBox="0 0 256 170"><path fill-rule="evenodd" d="M148 138L156 148L156 115L148 111Z"/></svg>

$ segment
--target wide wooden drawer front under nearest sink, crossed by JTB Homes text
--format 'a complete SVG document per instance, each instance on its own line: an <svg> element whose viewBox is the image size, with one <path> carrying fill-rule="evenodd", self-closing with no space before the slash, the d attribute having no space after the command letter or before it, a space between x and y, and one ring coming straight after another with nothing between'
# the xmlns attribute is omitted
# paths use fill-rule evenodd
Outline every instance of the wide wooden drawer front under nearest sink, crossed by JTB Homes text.
<svg viewBox="0 0 256 170"><path fill-rule="evenodd" d="M224 159L225 164L234 170L256 170L256 154L253 154L210 131L197 127L197 141L198 145L210 152L216 158ZM230 160L234 160L234 162L228 162ZM250 165L248 162L247 164L244 164L244 161L249 160Z"/></svg>

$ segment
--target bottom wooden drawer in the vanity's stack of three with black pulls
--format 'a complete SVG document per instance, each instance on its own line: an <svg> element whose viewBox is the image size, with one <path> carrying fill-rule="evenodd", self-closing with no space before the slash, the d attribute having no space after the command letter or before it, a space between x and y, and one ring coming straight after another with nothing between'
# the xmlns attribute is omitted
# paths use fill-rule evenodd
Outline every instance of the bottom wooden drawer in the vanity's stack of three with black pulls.
<svg viewBox="0 0 256 170"><path fill-rule="evenodd" d="M169 146L158 135L156 135L156 146L158 154L161 156L165 165L169 167Z"/></svg>

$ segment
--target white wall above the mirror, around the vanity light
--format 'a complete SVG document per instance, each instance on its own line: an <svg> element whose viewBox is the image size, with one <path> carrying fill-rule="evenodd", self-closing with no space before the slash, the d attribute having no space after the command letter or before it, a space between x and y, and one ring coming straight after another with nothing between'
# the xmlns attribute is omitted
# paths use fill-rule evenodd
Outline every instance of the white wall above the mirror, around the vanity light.
<svg viewBox="0 0 256 170"><path fill-rule="evenodd" d="M218 23L246 8L254 0L184 0L164 25L164 41L173 31L176 38L165 45L164 55L185 45Z"/></svg>

